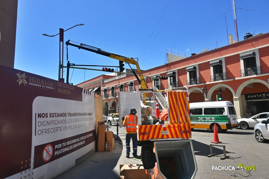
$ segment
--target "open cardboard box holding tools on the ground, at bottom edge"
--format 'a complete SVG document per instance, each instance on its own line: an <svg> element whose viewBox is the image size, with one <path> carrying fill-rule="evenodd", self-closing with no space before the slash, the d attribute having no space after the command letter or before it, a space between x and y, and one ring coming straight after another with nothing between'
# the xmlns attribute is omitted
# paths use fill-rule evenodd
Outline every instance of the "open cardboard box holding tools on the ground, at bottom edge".
<svg viewBox="0 0 269 179"><path fill-rule="evenodd" d="M136 164L133 164L136 166ZM143 166L129 168L128 165L120 165L120 179L149 179Z"/></svg>

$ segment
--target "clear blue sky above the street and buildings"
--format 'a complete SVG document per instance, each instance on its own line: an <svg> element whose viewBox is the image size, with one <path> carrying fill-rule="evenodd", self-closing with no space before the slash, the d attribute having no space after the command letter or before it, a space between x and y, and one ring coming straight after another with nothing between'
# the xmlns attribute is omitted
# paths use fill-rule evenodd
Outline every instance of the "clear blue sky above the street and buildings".
<svg viewBox="0 0 269 179"><path fill-rule="evenodd" d="M268 0L235 0L239 40L247 32L267 33ZM18 1L14 68L58 79L59 28L68 29L68 39L104 51L139 58L141 69L163 65L165 51L199 53L228 44L235 39L231 0L193 1ZM64 65L66 65L64 45ZM81 65L118 66L118 60L69 46L70 62ZM125 64L126 68L127 64ZM102 67L94 67L101 69ZM70 69L71 83L78 84L105 72ZM66 79L66 69L64 72Z"/></svg>

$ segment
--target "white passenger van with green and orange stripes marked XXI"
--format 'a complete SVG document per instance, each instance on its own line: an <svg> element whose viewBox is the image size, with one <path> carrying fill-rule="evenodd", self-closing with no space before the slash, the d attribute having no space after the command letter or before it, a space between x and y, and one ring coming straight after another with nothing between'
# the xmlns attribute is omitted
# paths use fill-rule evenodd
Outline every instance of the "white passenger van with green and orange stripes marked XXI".
<svg viewBox="0 0 269 179"><path fill-rule="evenodd" d="M189 104L191 128L220 130L238 127L234 105L230 101L194 102Z"/></svg>

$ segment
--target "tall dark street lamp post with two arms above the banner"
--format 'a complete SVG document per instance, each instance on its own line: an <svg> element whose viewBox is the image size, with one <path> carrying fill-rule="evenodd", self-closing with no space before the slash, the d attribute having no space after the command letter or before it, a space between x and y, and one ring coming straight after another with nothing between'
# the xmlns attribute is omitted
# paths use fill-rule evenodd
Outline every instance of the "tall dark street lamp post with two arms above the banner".
<svg viewBox="0 0 269 179"><path fill-rule="evenodd" d="M80 26L80 25L84 25L84 24L77 24L73 27L70 27L69 29L72 29L76 26ZM62 28L59 29L59 33L56 34L56 35L59 35L60 34L60 37L59 37L59 72L58 72L58 81L60 81L60 76L61 76L61 69L62 69L62 78L61 80L63 80L64 82L64 79L63 79L63 68L61 67L61 42L62 42L62 66L63 66L63 32L69 30L69 29L66 29L66 30L63 30ZM42 34L44 36L48 36L48 37L54 37L56 35L48 35L48 34Z"/></svg>

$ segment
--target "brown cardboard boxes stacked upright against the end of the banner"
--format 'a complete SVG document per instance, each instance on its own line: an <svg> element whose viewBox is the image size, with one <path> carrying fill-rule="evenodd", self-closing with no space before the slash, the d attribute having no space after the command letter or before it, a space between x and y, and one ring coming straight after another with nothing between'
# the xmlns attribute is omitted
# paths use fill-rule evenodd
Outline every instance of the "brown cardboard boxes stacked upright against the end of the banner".
<svg viewBox="0 0 269 179"><path fill-rule="evenodd" d="M98 122L97 151L112 151L115 144L112 131L105 131L104 122Z"/></svg>

